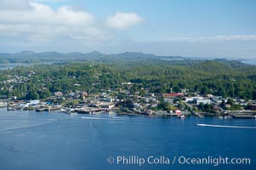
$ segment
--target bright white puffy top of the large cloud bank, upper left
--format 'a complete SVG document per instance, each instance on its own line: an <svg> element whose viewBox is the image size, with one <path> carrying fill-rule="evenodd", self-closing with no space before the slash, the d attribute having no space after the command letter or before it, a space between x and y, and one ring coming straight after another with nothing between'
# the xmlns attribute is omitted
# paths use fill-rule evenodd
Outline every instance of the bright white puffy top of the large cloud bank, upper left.
<svg viewBox="0 0 256 170"><path fill-rule="evenodd" d="M63 6L54 11L42 3L29 3L29 10L0 11L0 22L6 24L30 24L48 26L88 26L94 24L94 15L85 11L75 11Z"/></svg>

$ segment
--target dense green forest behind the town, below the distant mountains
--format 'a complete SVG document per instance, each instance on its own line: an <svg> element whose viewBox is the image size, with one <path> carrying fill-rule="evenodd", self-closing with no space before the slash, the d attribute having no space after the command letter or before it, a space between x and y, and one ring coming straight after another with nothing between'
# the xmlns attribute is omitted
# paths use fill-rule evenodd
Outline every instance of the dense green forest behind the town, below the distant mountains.
<svg viewBox="0 0 256 170"><path fill-rule="evenodd" d="M131 94L189 91L188 95L213 94L256 99L256 66L226 59L121 58L71 61L19 66L0 71L0 95L18 99L45 99L54 92L76 90L88 94L101 89L124 88L132 82Z"/></svg>

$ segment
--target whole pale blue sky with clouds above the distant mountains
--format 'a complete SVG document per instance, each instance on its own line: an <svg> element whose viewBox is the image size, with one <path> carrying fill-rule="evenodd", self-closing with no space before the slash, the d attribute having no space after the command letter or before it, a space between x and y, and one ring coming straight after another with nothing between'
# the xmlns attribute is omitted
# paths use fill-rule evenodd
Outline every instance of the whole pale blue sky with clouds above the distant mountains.
<svg viewBox="0 0 256 170"><path fill-rule="evenodd" d="M256 59L254 0L0 0L0 53Z"/></svg>

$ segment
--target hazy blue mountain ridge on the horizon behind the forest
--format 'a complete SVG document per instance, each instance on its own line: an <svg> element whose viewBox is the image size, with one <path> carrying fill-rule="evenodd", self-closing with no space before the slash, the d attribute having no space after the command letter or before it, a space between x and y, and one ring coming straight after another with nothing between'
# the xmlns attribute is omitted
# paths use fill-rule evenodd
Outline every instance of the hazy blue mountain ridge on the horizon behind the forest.
<svg viewBox="0 0 256 170"><path fill-rule="evenodd" d="M159 59L183 59L179 56L157 56L155 54L143 54L140 52L125 52L122 54L102 54L98 51L86 54L72 52L62 54L58 52L35 53L33 51L22 51L15 54L0 54L0 63L40 63L40 62L63 62L63 61L95 61L109 62L118 60L159 60Z"/></svg>

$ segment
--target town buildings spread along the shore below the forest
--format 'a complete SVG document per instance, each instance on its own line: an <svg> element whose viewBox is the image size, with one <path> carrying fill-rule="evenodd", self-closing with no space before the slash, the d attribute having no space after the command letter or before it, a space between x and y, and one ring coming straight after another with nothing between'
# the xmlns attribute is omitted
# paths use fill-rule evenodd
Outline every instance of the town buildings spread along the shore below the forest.
<svg viewBox="0 0 256 170"><path fill-rule="evenodd" d="M36 73L30 71L27 77L9 76L1 84L24 83ZM79 87L80 84L73 84ZM8 111L61 111L68 114L97 114L117 112L117 115L146 116L219 116L219 118L256 118L256 100L224 98L212 94L201 95L181 89L179 93L151 93L149 88L140 88L131 93L132 82L121 82L121 88L101 89L99 94L86 91L56 91L46 99L19 100L9 96L0 100L0 107ZM9 87L11 91L13 86ZM2 90L4 90L2 88Z"/></svg>

